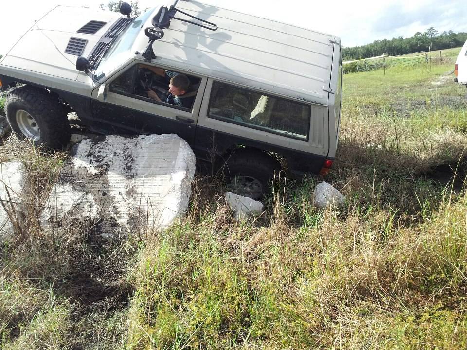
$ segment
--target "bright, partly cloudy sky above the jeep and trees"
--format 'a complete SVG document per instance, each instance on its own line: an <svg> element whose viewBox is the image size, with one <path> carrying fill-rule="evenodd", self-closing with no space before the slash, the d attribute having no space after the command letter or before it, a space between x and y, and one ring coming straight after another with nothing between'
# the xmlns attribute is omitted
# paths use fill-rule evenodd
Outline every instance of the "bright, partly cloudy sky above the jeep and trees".
<svg viewBox="0 0 467 350"><path fill-rule="evenodd" d="M1 0L0 54L5 54L54 6L85 6L101 11L108 0ZM174 0L139 0L140 8ZM440 33L467 32L465 0L201 0L206 4L270 18L341 37L344 47L374 40L410 37L434 27ZM87 18L88 19L88 18Z"/></svg>

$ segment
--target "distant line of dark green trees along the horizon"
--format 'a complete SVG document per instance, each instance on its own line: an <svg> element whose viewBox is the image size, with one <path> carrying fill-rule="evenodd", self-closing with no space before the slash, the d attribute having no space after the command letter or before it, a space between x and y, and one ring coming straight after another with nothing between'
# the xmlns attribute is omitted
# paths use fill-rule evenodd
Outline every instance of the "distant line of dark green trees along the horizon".
<svg viewBox="0 0 467 350"><path fill-rule="evenodd" d="M380 55L397 56L407 53L415 53L421 51L434 51L442 49L450 49L462 46L467 40L467 33L453 31L439 33L433 27L427 29L426 32L417 32L412 37L392 38L391 40L375 40L370 44L362 46L344 47L342 48L342 56L344 60L357 60Z"/></svg>

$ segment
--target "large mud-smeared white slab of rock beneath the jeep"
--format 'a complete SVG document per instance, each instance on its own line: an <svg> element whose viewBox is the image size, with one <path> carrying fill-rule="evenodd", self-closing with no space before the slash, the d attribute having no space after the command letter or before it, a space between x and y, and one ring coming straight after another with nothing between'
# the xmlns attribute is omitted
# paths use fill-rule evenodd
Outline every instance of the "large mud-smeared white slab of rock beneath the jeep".
<svg viewBox="0 0 467 350"><path fill-rule="evenodd" d="M188 207L195 155L177 135L100 136L72 147L43 225L88 219L105 237L157 232Z"/></svg>

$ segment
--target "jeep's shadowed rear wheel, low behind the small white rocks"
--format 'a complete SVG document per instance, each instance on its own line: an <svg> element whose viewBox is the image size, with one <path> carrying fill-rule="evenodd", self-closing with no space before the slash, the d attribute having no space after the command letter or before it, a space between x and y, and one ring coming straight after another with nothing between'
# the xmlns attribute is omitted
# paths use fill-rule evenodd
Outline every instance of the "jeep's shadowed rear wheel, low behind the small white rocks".
<svg viewBox="0 0 467 350"><path fill-rule="evenodd" d="M261 151L240 150L226 163L225 175L229 191L261 200L270 192L274 172L278 175L281 165Z"/></svg>

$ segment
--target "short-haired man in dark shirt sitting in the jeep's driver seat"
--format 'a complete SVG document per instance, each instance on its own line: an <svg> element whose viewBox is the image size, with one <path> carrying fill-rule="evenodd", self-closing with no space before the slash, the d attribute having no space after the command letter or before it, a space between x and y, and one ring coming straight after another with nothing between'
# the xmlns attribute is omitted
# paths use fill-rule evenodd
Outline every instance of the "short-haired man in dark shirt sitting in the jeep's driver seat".
<svg viewBox="0 0 467 350"><path fill-rule="evenodd" d="M190 79L188 79L186 75L152 66L143 67L165 78L169 86L168 96L163 96L161 99L156 91L149 88L147 91L147 97L156 101L166 102L171 105L177 105L183 108L191 108L193 105L194 96L186 98L183 97L183 95L185 95L186 92L190 89L191 85Z"/></svg>

